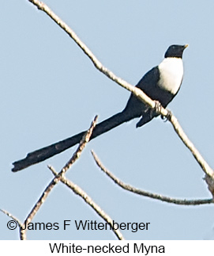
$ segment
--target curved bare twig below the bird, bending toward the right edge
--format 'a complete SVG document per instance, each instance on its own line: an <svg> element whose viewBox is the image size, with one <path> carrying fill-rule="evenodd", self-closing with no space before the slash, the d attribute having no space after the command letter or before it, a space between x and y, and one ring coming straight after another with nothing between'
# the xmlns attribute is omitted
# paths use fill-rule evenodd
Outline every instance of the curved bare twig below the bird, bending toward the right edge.
<svg viewBox="0 0 214 256"><path fill-rule="evenodd" d="M128 184L122 182L121 180L119 180L114 174L111 174L111 172L109 170L107 170L107 168L105 166L103 166L103 163L100 162L99 158L94 153L94 151L92 151L92 156L95 159L96 164L99 166L99 168L101 170L103 170L103 172L105 174L107 174L107 176L109 178L111 178L113 181L115 181L115 183L117 185L122 187L122 189L126 189L130 192L137 193L138 195L141 195L141 196L154 198L154 199L157 199L157 200L160 200L160 201L165 201L167 203L172 203L172 204L198 205L198 204L212 204L213 203L213 199L198 199L198 200L183 199L183 200L181 200L181 199L175 199L175 198L172 198L172 197L165 197L165 196L162 196L162 195L157 194L157 193L150 193L150 192L145 191L145 190L134 188L133 186L128 185Z"/></svg>

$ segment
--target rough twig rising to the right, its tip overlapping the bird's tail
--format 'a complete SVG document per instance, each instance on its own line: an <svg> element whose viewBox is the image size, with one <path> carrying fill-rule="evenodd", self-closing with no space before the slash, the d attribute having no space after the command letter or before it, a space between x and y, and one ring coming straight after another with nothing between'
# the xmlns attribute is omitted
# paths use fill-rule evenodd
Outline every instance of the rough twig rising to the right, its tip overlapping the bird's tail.
<svg viewBox="0 0 214 256"><path fill-rule="evenodd" d="M39 208L43 204L43 202L46 200L47 196L51 193L51 190L54 188L54 185L58 183L58 181L61 180L62 176L66 173L66 171L70 168L70 166L73 164L73 162L77 161L77 159L80 157L81 152L83 151L86 143L90 139L90 136L92 135L92 130L95 128L97 117L93 120L91 127L88 129L86 134L83 136L83 139L81 139L81 142L79 144L79 147L77 147L77 150L74 152L72 158L69 160L69 162L62 168L62 170L58 173L57 176L55 176L52 181L47 185L47 188L44 190L41 197L39 197L39 200L36 202L34 207L32 208L32 211L28 214L28 217L26 220L24 220L24 227L28 227L28 224L32 222L33 217L36 215L36 212L39 211ZM26 239L26 231L27 229L21 229L21 239Z"/></svg>

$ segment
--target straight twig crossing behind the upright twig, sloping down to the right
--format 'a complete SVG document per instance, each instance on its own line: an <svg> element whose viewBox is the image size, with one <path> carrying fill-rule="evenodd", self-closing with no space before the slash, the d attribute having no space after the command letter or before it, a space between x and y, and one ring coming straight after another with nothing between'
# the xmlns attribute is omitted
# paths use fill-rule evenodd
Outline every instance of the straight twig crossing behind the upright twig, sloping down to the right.
<svg viewBox="0 0 214 256"><path fill-rule="evenodd" d="M48 168L51 170L51 172L57 176L58 173L54 170L54 168L52 166L48 166ZM81 187L79 187L78 185L74 184L72 181L69 181L67 178L65 178L65 176L62 176L61 181L67 185L69 187L69 189L72 189L74 193L76 193L78 196L80 196L89 206L92 207L92 209L94 211L96 211L96 213L103 218L104 221L107 222L107 224L109 224L111 226L111 230L115 233L115 235L117 236L117 238L119 240L124 240L122 233L118 230L118 229L114 229L113 227L113 220L111 219L110 216L107 215L106 212L104 212L98 204L96 204L94 201L92 201L92 198L88 196L87 193L84 192L83 189L81 189Z"/></svg>

